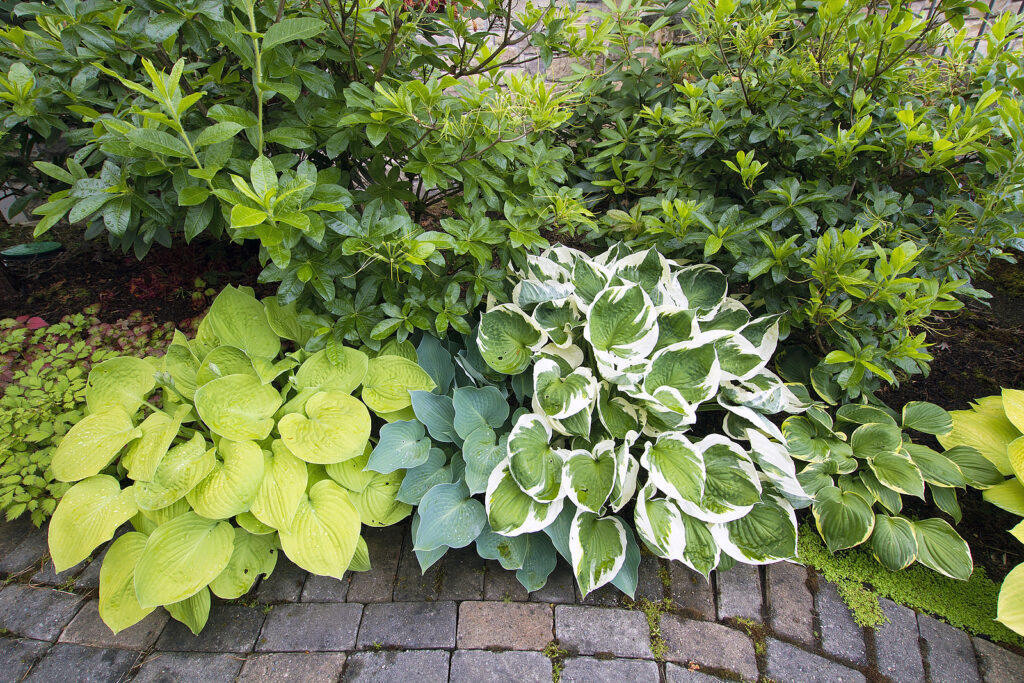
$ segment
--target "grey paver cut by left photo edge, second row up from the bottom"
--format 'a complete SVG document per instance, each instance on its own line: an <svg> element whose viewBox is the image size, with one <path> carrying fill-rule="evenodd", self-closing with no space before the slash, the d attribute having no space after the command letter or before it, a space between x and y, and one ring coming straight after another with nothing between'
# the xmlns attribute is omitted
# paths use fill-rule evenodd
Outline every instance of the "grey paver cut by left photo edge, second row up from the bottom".
<svg viewBox="0 0 1024 683"><path fill-rule="evenodd" d="M36 640L56 640L84 601L51 588L8 586L0 591L0 629Z"/></svg>

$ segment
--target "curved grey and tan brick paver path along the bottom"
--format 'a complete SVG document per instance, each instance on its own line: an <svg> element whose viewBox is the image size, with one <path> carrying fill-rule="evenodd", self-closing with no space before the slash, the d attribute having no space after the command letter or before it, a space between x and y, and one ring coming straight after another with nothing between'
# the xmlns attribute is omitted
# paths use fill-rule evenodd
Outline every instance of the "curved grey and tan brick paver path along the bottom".
<svg viewBox="0 0 1024 683"><path fill-rule="evenodd" d="M632 603L610 587L582 600L564 564L527 594L472 548L421 575L404 524L367 541L374 569L344 581L282 555L249 596L215 599L200 637L162 609L114 635L98 562L55 575L42 531L0 524L0 682L1024 681L1024 657L888 601L889 624L859 628L799 565L709 585L645 555Z"/></svg>

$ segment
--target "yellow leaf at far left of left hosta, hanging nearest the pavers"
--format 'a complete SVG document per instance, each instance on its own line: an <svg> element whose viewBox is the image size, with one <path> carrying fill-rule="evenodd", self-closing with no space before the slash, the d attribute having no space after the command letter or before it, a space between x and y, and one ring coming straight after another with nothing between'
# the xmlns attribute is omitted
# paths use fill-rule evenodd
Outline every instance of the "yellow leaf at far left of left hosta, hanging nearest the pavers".
<svg viewBox="0 0 1024 683"><path fill-rule="evenodd" d="M137 511L133 486L122 490L118 480L105 474L79 481L63 495L50 519L53 567L63 571L89 557Z"/></svg>

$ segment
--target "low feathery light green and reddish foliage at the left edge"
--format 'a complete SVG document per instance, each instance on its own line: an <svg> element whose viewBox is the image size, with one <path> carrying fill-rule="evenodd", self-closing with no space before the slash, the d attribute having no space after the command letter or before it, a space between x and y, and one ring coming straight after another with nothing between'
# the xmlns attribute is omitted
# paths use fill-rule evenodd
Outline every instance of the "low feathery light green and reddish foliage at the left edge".
<svg viewBox="0 0 1024 683"><path fill-rule="evenodd" d="M41 525L68 489L54 477L50 458L83 416L92 364L115 349L153 353L171 329L140 313L102 324L94 312L36 330L26 322L0 321L0 511L8 520L27 515Z"/></svg>

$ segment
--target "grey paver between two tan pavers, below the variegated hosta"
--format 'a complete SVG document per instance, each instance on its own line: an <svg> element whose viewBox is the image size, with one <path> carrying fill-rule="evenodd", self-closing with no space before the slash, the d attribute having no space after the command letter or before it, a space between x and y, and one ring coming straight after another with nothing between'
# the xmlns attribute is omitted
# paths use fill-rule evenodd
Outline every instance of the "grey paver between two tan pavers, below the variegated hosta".
<svg viewBox="0 0 1024 683"><path fill-rule="evenodd" d="M579 654L613 654L653 658L650 629L638 611L558 605L555 636L562 647Z"/></svg>

